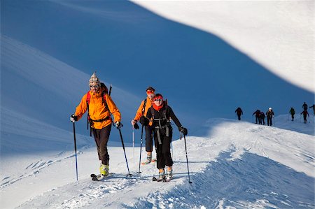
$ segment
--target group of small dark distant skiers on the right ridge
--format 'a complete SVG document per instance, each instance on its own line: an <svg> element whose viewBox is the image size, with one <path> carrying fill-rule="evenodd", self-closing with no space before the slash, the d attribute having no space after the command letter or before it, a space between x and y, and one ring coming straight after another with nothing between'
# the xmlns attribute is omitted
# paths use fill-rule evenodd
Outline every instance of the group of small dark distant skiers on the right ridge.
<svg viewBox="0 0 315 209"><path fill-rule="evenodd" d="M309 113L307 112L307 103L303 103L302 105L303 111L300 115L303 115L303 120L304 123L307 123L307 116L309 116ZM313 109L313 113L315 115L315 104L313 106L310 106L309 108ZM243 115L243 110L241 110L241 108L237 108L235 110L235 113L237 113L237 119L241 120L241 115ZM291 117L292 117L292 121L294 120L294 115L295 115L295 110L294 108L290 108L289 111ZM255 124L262 124L265 125L265 117L267 117L267 125L268 126L272 126L272 118L274 117L274 111L272 110L272 108L268 108L266 114L260 110L255 110L255 112L252 114L252 116L255 115Z"/></svg>

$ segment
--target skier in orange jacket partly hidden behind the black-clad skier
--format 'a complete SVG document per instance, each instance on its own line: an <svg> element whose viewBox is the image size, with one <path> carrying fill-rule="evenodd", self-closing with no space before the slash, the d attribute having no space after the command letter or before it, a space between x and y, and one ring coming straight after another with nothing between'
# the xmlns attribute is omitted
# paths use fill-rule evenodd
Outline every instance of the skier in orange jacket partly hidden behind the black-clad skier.
<svg viewBox="0 0 315 209"><path fill-rule="evenodd" d="M132 126L134 126L135 129L139 129L139 126L137 122L139 121L142 124L142 120L144 117L146 117L146 114L148 113L148 109L151 108L153 103L153 98L155 96L154 94L155 89L153 87L148 87L146 89L146 99L144 99L136 113L136 116L131 121ZM151 124L144 125L144 129L146 130L146 152L147 157L146 161L143 164L149 164L152 161L152 151L153 151L153 129L151 127Z"/></svg>

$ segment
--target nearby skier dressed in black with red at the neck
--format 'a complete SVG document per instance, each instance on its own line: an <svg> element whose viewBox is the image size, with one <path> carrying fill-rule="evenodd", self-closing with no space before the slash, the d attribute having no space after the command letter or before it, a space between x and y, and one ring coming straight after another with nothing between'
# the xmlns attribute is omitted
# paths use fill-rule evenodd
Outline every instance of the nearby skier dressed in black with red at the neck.
<svg viewBox="0 0 315 209"><path fill-rule="evenodd" d="M179 131L185 136L188 134L186 128L181 126L181 122L177 119L172 108L167 106L163 101L162 94L155 94L153 99L153 106L148 109L146 117L141 117L144 124L148 124L149 120L153 122L154 142L157 151L157 167L159 169L158 180L171 180L173 177L173 160L171 156L171 142L172 142L172 126L170 119L174 121ZM167 175L165 177L165 166L167 166Z"/></svg>

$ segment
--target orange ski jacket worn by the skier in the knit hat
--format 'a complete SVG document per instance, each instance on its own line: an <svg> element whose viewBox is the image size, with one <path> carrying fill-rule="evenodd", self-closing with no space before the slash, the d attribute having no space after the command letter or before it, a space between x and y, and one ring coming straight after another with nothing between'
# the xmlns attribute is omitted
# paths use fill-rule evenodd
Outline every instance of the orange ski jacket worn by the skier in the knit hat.
<svg viewBox="0 0 315 209"><path fill-rule="evenodd" d="M80 104L76 107L76 113L74 115L78 116L78 120L87 111L87 94L85 94ZM109 94L105 94L106 104L103 102L102 92L93 93L90 91L90 104L89 104L89 115L92 120L106 120L102 122L93 122L92 127L94 129L102 129L109 124L111 124L111 114L114 117L114 122L120 122L121 114L116 106L116 104L111 99Z"/></svg>

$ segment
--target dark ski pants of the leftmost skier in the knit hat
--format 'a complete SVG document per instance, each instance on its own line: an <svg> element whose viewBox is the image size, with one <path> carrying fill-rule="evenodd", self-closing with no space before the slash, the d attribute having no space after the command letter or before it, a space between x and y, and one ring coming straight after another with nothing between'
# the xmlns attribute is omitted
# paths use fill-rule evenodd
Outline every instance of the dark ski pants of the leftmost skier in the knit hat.
<svg viewBox="0 0 315 209"><path fill-rule="evenodd" d="M93 136L97 145L97 154L102 164L109 165L109 152L107 150L107 143L109 142L109 134L111 134L111 124L103 129L93 129Z"/></svg>

